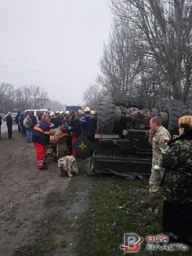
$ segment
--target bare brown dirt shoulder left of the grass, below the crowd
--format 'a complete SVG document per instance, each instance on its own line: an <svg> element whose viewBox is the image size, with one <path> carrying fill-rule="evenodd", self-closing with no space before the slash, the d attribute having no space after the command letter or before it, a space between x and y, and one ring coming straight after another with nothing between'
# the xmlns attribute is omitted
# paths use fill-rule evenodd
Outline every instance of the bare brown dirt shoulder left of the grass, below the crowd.
<svg viewBox="0 0 192 256"><path fill-rule="evenodd" d="M60 177L51 157L39 171L34 144L13 137L0 140L0 255L74 255L70 227L88 204L84 161L73 178Z"/></svg>

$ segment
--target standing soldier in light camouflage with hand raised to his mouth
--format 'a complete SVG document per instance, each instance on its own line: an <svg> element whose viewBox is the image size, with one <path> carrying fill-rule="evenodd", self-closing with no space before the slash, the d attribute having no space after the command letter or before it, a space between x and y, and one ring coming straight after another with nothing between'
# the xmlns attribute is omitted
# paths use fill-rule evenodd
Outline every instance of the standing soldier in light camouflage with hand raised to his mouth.
<svg viewBox="0 0 192 256"><path fill-rule="evenodd" d="M150 120L150 136L149 142L153 148L153 159L152 159L152 169L151 176L149 180L149 198L145 201L141 201L142 204L154 204L154 196L160 195L160 182L163 178L165 169L162 168L160 164L161 154L165 153L168 150L168 146L162 140L161 136L169 137L170 133L166 128L162 126L162 120L158 116L154 116ZM154 134L155 133L155 134ZM157 166L158 170L154 170L154 167Z"/></svg>

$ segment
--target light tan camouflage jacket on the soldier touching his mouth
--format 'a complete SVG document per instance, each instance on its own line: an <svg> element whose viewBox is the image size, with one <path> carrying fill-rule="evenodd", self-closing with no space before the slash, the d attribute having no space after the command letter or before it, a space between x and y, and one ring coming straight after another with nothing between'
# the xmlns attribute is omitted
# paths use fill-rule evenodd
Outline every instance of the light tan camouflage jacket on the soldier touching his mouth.
<svg viewBox="0 0 192 256"><path fill-rule="evenodd" d="M162 140L160 140L160 136L166 136L170 138L170 133L168 132L168 130L166 130L166 128L164 128L163 126L160 126L160 128L154 134L154 136L149 137L149 142L153 148L152 168L155 165L161 167L161 164L160 164L161 154L164 154L169 148L166 143L163 143Z"/></svg>

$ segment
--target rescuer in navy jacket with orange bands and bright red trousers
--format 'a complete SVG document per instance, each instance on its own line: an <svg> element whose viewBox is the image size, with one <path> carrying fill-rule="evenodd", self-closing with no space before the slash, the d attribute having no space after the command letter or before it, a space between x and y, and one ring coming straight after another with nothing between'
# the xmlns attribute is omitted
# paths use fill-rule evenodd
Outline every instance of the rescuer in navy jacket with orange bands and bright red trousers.
<svg viewBox="0 0 192 256"><path fill-rule="evenodd" d="M47 169L44 165L47 164L45 162L45 146L48 145L50 141L49 122L50 118L46 117L39 124L36 124L32 132L32 142L34 142L36 148L37 165L39 170Z"/></svg>

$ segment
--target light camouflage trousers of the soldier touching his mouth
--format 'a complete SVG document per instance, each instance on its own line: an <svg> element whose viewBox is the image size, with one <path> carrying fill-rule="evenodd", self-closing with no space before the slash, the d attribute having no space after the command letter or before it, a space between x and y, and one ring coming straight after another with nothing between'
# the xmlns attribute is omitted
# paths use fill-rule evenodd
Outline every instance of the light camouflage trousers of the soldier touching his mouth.
<svg viewBox="0 0 192 256"><path fill-rule="evenodd" d="M165 170L154 170L154 166L155 164L152 164L151 176L149 179L149 193L153 196L161 196L162 187L160 187L159 185L161 183Z"/></svg>

